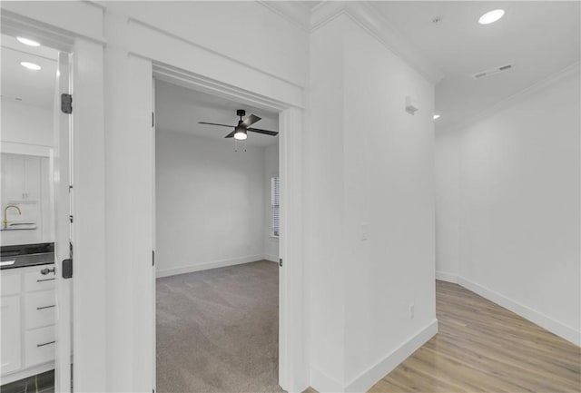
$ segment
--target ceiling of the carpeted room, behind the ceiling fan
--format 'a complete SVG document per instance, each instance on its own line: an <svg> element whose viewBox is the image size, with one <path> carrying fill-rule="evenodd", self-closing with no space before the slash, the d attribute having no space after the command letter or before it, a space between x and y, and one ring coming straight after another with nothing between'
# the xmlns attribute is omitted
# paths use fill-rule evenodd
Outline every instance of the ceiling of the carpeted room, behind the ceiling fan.
<svg viewBox="0 0 581 393"><path fill-rule="evenodd" d="M233 126L238 124L237 109L245 110L246 115L254 113L262 118L260 122L252 124L252 127L279 131L278 113L162 81L155 83L156 131L187 133L221 140L224 143L231 143L233 146L233 138L225 139L224 136L231 133ZM232 128L198 124L198 122L231 124ZM249 146L261 147L270 146L278 141L278 135L270 136L261 133L248 133L246 140Z"/></svg>

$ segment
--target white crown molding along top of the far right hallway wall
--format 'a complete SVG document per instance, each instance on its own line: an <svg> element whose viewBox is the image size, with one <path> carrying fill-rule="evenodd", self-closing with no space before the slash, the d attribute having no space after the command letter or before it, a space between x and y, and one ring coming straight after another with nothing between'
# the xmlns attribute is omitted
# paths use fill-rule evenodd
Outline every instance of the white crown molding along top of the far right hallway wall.
<svg viewBox="0 0 581 393"><path fill-rule="evenodd" d="M436 130L436 133L454 133L457 131L464 130L475 123L478 123L487 117L492 116L495 113L498 113L502 110L505 110L517 103L521 103L522 101L526 100L528 97L531 97L537 93L542 92L543 90L551 87L554 84L557 84L563 80L566 80L570 76L574 76L575 74L579 74L581 72L581 62L576 62L574 64L566 66L561 71L557 71L555 74L551 74L547 76L547 78L538 81L536 84L531 84L527 88L521 90L518 93L515 93L504 100L490 106L489 108L485 109L484 111L471 116L468 120L458 123L458 125L454 125L449 127L448 129L444 130Z"/></svg>

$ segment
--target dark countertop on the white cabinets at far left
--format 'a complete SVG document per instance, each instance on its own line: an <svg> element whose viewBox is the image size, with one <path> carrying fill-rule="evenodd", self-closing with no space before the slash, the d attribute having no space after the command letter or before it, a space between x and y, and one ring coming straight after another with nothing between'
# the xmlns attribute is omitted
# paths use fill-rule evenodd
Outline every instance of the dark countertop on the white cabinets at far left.
<svg viewBox="0 0 581 393"><path fill-rule="evenodd" d="M4 264L12 260L14 263ZM0 261L3 262L0 270L54 264L54 243L3 246L0 249Z"/></svg>

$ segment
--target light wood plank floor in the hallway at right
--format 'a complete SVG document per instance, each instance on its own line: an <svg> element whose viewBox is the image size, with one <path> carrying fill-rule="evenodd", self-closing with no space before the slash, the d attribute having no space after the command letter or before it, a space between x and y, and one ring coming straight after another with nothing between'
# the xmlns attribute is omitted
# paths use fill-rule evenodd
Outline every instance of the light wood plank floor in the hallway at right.
<svg viewBox="0 0 581 393"><path fill-rule="evenodd" d="M369 393L581 391L581 349L456 284L436 289L438 335Z"/></svg>

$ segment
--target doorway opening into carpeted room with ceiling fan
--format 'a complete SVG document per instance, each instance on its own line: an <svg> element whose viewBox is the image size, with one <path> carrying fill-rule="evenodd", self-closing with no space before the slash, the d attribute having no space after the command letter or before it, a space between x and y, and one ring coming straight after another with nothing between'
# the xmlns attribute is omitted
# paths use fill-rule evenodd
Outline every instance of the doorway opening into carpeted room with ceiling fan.
<svg viewBox="0 0 581 393"><path fill-rule="evenodd" d="M252 132L279 113L160 80L154 95L157 390L282 391L279 142Z"/></svg>

